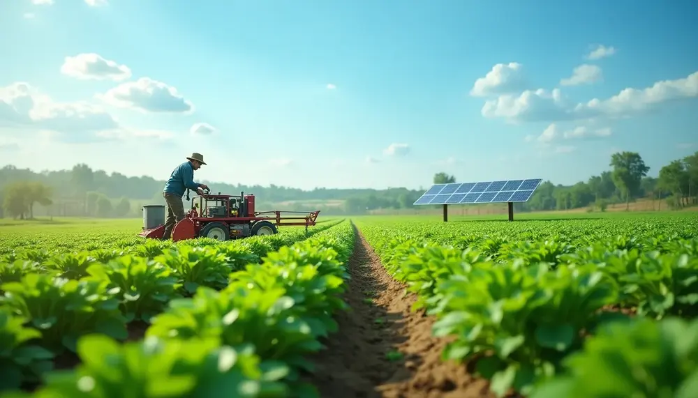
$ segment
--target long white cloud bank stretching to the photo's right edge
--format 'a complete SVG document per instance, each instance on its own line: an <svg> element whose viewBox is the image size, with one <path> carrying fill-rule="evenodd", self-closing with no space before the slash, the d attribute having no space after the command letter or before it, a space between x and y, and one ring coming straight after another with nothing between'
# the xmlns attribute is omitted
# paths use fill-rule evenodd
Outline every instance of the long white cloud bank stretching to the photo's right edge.
<svg viewBox="0 0 698 398"><path fill-rule="evenodd" d="M563 98L559 89L526 90L520 95L502 95L488 100L482 116L507 118L510 121L565 121L608 117L625 117L651 109L664 102L698 96L698 72L676 80L655 82L646 89L624 89L607 100L594 98L573 103Z"/></svg>

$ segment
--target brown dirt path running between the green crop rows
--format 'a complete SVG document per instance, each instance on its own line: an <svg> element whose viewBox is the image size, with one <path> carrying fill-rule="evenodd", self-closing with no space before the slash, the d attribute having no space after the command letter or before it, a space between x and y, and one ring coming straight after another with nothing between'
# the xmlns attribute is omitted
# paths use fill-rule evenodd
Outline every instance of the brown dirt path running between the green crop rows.
<svg viewBox="0 0 698 398"><path fill-rule="evenodd" d="M312 358L317 371L308 381L321 397L493 397L465 367L440 360L445 340L431 337L433 320L410 312L415 297L404 295L356 227L354 233L345 296L352 310L337 316L339 331Z"/></svg>

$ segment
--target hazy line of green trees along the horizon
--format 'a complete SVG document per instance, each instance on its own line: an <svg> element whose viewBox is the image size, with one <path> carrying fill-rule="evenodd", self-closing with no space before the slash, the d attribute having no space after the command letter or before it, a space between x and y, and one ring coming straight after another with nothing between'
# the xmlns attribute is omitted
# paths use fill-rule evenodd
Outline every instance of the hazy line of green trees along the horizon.
<svg viewBox="0 0 698 398"><path fill-rule="evenodd" d="M639 153L611 155L610 169L574 185L544 181L533 197L515 204L517 211L550 211L593 207L604 210L609 204L649 198L667 208L683 208L698 203L698 152L662 167L656 177ZM440 172L433 183L456 182L455 176ZM328 215L355 215L379 209L415 208L413 203L424 190L394 187L374 189L300 190L279 185L232 185L205 181L213 192L254 193L257 208L263 210L311 211ZM87 164L72 169L32 171L7 165L0 169L0 216L34 217L43 215L139 217L143 204L164 204L164 180L149 176L124 176L93 170ZM426 187L425 187L426 189ZM336 201L339 204L330 202ZM423 206L420 206L423 207Z"/></svg>

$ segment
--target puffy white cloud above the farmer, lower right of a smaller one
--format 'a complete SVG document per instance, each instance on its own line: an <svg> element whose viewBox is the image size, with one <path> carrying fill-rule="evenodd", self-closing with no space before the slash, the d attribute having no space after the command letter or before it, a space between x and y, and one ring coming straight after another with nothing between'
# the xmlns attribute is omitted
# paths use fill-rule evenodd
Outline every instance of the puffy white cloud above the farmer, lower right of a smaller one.
<svg viewBox="0 0 698 398"><path fill-rule="evenodd" d="M149 77L120 84L96 97L116 107L141 112L188 113L194 109L194 105L179 94L177 89Z"/></svg>

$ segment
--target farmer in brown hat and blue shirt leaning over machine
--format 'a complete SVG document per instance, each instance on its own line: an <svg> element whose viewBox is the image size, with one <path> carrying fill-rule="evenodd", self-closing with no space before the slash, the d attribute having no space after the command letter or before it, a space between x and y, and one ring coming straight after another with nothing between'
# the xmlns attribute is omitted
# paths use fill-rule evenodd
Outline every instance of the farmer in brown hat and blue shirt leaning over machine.
<svg viewBox="0 0 698 398"><path fill-rule="evenodd" d="M204 194L204 190L208 189L208 185L194 182L194 170L198 170L204 162L204 157L200 153L192 153L191 157L186 158L188 161L179 164L172 171L172 175L163 189L163 197L168 205L168 215L165 219L165 233L163 240L172 237L172 229L174 224L184 218L184 204L181 197L187 189L196 190L200 195Z"/></svg>

